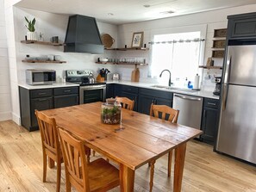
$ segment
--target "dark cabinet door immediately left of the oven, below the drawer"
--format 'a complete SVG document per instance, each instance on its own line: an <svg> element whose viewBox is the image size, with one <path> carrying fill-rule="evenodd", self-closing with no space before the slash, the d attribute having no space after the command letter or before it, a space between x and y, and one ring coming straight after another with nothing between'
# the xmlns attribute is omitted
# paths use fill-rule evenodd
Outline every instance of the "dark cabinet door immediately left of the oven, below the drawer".
<svg viewBox="0 0 256 192"><path fill-rule="evenodd" d="M66 96L54 96L54 108L65 108L78 105L78 94Z"/></svg>

